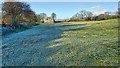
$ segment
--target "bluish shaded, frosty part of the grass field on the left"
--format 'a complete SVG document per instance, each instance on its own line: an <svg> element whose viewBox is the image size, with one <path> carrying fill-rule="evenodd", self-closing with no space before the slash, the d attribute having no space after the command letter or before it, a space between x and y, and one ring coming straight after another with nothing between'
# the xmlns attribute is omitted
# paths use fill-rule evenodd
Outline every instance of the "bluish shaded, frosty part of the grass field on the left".
<svg viewBox="0 0 120 68"><path fill-rule="evenodd" d="M64 31L79 29L84 25L41 24L32 29L2 38L2 59L5 66L55 66L60 65L48 58L62 47L48 48L61 38Z"/></svg>

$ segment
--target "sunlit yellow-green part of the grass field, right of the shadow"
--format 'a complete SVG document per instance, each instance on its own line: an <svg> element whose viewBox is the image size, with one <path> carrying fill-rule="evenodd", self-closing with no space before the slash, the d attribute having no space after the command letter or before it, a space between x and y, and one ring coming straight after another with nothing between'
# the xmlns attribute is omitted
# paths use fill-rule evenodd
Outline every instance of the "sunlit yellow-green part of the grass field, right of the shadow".
<svg viewBox="0 0 120 68"><path fill-rule="evenodd" d="M48 60L59 65L115 66L118 65L118 20L70 22L88 25L81 29L65 31L57 39L57 44L49 48L62 46Z"/></svg>

